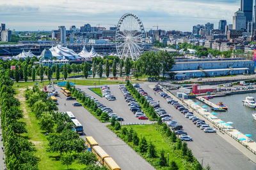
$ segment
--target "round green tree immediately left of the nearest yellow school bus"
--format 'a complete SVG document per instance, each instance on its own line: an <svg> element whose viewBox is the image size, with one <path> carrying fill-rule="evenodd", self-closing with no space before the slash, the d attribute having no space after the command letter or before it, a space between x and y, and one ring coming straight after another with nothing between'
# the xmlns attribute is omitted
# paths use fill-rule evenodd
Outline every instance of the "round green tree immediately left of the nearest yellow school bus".
<svg viewBox="0 0 256 170"><path fill-rule="evenodd" d="M85 151L84 153L79 153L77 156L77 163L83 165L93 165L97 162L97 157L94 153Z"/></svg>

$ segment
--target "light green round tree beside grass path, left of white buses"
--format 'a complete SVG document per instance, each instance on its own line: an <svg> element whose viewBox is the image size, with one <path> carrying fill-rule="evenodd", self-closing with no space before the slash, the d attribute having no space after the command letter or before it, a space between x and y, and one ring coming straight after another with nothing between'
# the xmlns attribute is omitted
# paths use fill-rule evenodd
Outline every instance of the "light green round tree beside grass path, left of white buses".
<svg viewBox="0 0 256 170"><path fill-rule="evenodd" d="M39 120L39 125L42 130L50 132L54 127L54 118L50 113L45 112Z"/></svg>

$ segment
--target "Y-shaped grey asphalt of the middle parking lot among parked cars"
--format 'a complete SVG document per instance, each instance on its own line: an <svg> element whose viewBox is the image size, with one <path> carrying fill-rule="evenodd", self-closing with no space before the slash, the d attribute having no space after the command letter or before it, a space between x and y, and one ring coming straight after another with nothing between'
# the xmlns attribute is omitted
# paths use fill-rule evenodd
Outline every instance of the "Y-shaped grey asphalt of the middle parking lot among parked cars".
<svg viewBox="0 0 256 170"><path fill-rule="evenodd" d="M124 118L124 122L122 124L151 124L149 120L138 120L135 115L130 110L130 106L125 102L124 96L120 89L118 89L118 85L109 85L109 90L111 94L116 97L115 101L108 101L105 97L99 97L97 94L88 89L90 86L76 85L81 90L89 94L90 96L98 99L100 103L104 104L108 108L113 110L113 113L116 113L118 117Z"/></svg>

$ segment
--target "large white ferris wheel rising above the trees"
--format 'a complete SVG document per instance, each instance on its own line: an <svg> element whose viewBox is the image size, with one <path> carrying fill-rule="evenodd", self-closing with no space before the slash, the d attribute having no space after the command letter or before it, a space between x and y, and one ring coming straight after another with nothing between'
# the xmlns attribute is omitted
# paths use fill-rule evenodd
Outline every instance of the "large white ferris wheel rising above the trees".
<svg viewBox="0 0 256 170"><path fill-rule="evenodd" d="M137 60L145 48L145 30L140 18L133 13L125 13L116 25L115 41L120 58Z"/></svg>

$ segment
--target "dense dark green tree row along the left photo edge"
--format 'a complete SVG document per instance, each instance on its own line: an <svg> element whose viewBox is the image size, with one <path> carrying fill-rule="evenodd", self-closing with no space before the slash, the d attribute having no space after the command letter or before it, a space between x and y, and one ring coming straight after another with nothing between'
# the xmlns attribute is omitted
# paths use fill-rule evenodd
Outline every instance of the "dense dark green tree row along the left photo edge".
<svg viewBox="0 0 256 170"><path fill-rule="evenodd" d="M38 169L38 157L35 156L35 147L28 138L20 136L26 132L26 124L19 121L23 117L20 111L20 102L13 95L12 80L8 71L0 64L0 105L1 127L5 163L8 169Z"/></svg>

